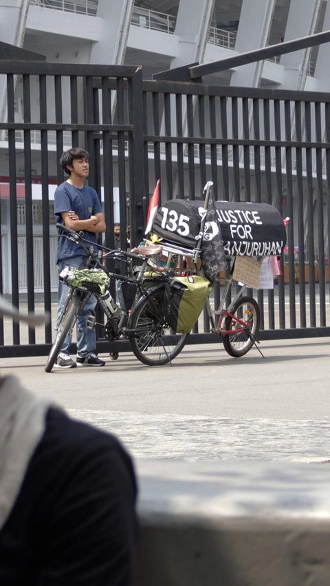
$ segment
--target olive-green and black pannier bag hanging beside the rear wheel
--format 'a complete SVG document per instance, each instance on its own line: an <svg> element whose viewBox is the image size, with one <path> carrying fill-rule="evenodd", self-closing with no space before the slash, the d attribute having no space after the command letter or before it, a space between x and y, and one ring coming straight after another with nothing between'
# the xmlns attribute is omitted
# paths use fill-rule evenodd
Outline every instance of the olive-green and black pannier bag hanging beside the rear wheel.
<svg viewBox="0 0 330 586"><path fill-rule="evenodd" d="M166 283L164 315L176 333L188 334L203 309L212 286L198 275L175 277Z"/></svg>

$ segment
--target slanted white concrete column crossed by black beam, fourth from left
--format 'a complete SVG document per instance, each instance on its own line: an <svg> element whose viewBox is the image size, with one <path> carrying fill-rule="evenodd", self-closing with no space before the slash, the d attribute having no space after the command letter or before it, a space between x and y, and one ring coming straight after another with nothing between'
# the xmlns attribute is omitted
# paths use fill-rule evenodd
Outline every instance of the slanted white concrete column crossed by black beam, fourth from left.
<svg viewBox="0 0 330 586"><path fill-rule="evenodd" d="M245 53L267 45L276 0L243 0L235 51ZM230 85L258 87L263 61L238 67L232 73Z"/></svg>

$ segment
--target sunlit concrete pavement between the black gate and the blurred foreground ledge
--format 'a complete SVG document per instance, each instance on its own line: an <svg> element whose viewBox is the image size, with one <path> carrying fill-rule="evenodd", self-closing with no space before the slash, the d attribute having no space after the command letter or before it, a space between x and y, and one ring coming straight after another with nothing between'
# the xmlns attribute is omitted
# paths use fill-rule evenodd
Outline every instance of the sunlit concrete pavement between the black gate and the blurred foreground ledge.
<svg viewBox="0 0 330 586"><path fill-rule="evenodd" d="M173 366L131 353L104 368L45 373L44 357L1 359L37 394L118 433L137 458L330 458L327 338L263 341L233 359L221 343L186 346Z"/></svg>

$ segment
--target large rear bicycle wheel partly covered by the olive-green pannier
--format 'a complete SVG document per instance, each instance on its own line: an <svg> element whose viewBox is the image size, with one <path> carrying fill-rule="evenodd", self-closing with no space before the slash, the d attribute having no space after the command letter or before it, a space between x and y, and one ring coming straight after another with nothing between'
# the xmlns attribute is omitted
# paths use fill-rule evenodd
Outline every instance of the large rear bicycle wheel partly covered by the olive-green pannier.
<svg viewBox="0 0 330 586"><path fill-rule="evenodd" d="M165 284L149 291L137 302L129 323L132 350L148 366L161 366L173 360L189 334L176 334L164 317Z"/></svg>

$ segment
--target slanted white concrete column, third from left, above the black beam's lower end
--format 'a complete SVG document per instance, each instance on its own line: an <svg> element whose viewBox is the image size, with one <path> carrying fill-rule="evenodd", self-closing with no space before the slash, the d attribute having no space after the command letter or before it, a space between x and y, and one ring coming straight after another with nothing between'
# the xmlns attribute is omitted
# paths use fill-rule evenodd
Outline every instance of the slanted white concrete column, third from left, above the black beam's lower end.
<svg viewBox="0 0 330 586"><path fill-rule="evenodd" d="M214 0L180 0L175 25L179 53L173 58L170 69L197 61L203 63L213 7Z"/></svg>

